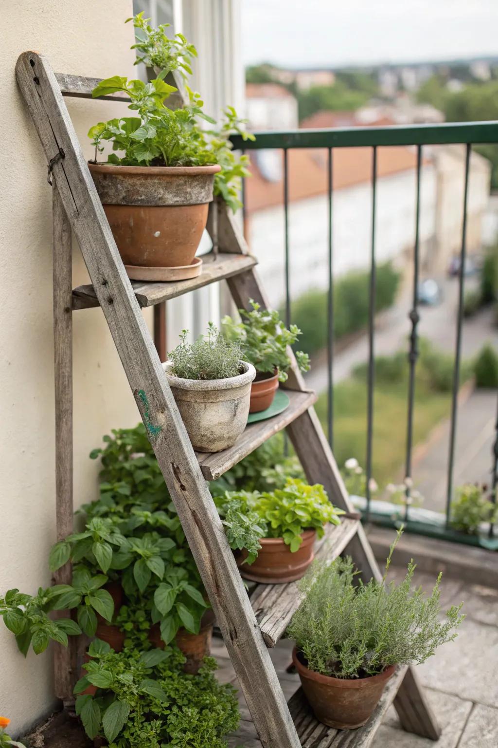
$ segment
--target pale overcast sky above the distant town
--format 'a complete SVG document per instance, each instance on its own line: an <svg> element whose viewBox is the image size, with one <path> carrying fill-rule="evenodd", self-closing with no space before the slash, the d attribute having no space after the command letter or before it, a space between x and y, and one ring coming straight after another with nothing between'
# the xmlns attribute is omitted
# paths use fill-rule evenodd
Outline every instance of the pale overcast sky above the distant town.
<svg viewBox="0 0 498 748"><path fill-rule="evenodd" d="M245 64L498 55L498 0L242 0Z"/></svg>

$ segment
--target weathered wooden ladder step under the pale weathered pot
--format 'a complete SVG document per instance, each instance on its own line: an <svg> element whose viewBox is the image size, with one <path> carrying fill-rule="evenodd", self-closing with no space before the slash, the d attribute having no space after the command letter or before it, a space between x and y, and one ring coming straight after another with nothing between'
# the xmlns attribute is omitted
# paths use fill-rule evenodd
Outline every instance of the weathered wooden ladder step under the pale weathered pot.
<svg viewBox="0 0 498 748"><path fill-rule="evenodd" d="M226 470L233 468L234 465L237 465L237 462L254 452L256 447L267 441L270 436L284 429L308 408L311 408L314 402L317 402L317 396L314 392L285 390L285 393L290 400L286 410L268 420L250 423L233 447L222 450L222 452L196 453L202 475L206 480L220 478Z"/></svg>

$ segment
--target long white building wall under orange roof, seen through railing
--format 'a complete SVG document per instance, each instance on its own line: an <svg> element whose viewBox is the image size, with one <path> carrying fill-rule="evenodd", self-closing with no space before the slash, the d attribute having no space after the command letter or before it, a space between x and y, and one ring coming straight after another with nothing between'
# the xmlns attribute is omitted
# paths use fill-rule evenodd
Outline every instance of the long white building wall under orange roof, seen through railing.
<svg viewBox="0 0 498 748"><path fill-rule="evenodd" d="M415 230L415 171L382 177L377 183L376 260L402 262L412 251ZM436 175L423 167L420 246L435 235ZM372 190L370 183L334 191L334 275L364 269L370 263ZM291 297L328 286L328 198L326 194L289 206ZM284 211L282 206L255 212L249 218L251 251L273 306L284 301Z"/></svg>

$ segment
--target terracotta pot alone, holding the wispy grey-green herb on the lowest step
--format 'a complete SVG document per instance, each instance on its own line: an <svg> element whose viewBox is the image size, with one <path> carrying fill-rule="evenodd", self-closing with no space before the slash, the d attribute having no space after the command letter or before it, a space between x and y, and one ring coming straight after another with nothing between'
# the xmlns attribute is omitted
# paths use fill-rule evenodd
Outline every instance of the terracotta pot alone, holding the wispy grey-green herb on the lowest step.
<svg viewBox="0 0 498 748"><path fill-rule="evenodd" d="M296 648L292 658L315 717L324 725L340 730L361 727L369 720L394 672L394 666L390 665L379 675L368 678L331 678L306 667Z"/></svg>

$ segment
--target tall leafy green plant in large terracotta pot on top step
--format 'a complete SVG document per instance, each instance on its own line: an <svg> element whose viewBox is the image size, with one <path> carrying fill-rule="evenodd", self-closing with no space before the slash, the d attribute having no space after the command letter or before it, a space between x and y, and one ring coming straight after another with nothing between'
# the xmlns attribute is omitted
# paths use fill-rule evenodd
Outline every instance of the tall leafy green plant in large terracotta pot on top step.
<svg viewBox="0 0 498 748"><path fill-rule="evenodd" d="M232 107L222 126L215 127L215 120L202 111L199 94L188 87L187 104L168 108L165 101L177 88L164 79L173 70L190 74L196 49L182 34L169 39L166 25L152 28L143 13L133 21L140 33L134 45L142 53L138 61L158 74L149 82L113 76L93 90L94 98L117 92L128 96L134 116L90 128L95 147L90 173L128 276L142 281L193 278L201 270L194 256L213 194L236 209L238 181L249 176L246 157L231 152L228 136L252 136ZM211 129L202 127L203 121ZM112 153L106 163L97 163L107 142Z"/></svg>

